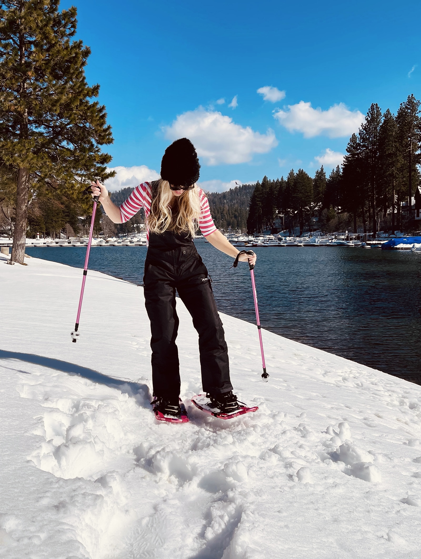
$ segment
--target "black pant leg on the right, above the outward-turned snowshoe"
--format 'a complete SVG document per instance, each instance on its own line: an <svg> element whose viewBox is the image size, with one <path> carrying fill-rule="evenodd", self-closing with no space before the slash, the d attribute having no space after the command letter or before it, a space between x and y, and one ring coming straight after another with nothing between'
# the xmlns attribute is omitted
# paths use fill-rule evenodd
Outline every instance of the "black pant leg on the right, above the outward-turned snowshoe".
<svg viewBox="0 0 421 559"><path fill-rule="evenodd" d="M207 271L178 283L177 291L199 334L203 390L210 394L229 392L228 348Z"/></svg>

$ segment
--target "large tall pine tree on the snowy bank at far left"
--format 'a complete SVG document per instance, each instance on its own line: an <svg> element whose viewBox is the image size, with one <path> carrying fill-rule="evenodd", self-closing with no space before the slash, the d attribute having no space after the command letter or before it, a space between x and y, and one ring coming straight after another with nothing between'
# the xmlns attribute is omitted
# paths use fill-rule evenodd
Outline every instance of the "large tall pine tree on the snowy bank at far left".
<svg viewBox="0 0 421 559"><path fill-rule="evenodd" d="M0 2L0 169L15 178L16 223L12 262L23 264L30 197L83 190L93 177L112 174L112 143L99 85L89 87L90 54L76 32L76 8L59 0Z"/></svg>

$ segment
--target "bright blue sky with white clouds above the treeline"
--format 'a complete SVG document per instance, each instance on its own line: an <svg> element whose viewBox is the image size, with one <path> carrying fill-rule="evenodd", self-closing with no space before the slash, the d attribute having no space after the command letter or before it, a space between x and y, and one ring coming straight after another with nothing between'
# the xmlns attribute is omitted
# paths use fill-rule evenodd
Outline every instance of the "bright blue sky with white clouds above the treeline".
<svg viewBox="0 0 421 559"><path fill-rule="evenodd" d="M74 3L113 128L113 190L155 178L181 136L208 190L313 176L341 161L370 103L421 97L420 2Z"/></svg>

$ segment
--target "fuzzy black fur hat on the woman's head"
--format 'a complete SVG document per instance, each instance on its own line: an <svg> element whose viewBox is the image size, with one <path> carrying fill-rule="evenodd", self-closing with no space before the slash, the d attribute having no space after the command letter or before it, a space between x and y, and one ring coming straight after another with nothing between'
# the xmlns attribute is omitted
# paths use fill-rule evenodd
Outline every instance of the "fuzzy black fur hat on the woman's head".
<svg viewBox="0 0 421 559"><path fill-rule="evenodd" d="M161 161L161 178L173 186L191 186L199 179L199 159L187 138L175 140L165 150Z"/></svg>

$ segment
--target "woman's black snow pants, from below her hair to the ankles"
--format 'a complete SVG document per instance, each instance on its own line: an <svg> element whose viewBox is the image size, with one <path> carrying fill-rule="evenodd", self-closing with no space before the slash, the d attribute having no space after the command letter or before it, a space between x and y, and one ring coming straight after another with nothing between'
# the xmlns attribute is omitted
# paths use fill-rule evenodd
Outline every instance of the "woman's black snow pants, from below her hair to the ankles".
<svg viewBox="0 0 421 559"><path fill-rule="evenodd" d="M180 394L178 349L179 319L175 292L193 318L199 334L200 367L205 392L232 390L228 348L224 338L208 271L192 236L150 233L143 277L146 311L151 321L152 383L155 396Z"/></svg>

